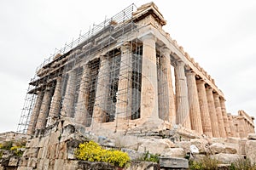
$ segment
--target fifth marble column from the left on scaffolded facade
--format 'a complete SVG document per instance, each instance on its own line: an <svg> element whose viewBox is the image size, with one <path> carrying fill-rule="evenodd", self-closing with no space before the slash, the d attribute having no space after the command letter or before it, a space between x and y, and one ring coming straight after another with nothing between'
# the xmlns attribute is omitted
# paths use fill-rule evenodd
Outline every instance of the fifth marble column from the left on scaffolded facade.
<svg viewBox="0 0 256 170"><path fill-rule="evenodd" d="M90 67L88 64L84 65L83 75L80 81L79 88L79 98L78 103L76 105L76 111L74 115L75 122L81 125L86 126L86 122L88 121L88 105L90 92L88 86L90 84Z"/></svg>

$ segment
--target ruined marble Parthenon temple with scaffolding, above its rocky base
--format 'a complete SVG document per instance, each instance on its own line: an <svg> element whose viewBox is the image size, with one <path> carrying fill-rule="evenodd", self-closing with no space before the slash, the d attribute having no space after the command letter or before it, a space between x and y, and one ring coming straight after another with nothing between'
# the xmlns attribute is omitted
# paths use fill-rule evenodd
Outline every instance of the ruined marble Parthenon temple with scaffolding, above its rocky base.
<svg viewBox="0 0 256 170"><path fill-rule="evenodd" d="M57 51L29 83L21 133L68 120L84 132L184 127L207 137L254 133L245 111L227 113L223 92L162 29L154 3L133 4Z"/></svg>

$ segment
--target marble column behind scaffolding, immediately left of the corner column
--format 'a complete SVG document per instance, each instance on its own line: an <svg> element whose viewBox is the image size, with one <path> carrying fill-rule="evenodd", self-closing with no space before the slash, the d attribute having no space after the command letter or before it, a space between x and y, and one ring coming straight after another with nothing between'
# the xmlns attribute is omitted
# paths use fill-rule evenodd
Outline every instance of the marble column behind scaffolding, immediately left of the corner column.
<svg viewBox="0 0 256 170"><path fill-rule="evenodd" d="M119 71L119 87L116 103L116 118L124 120L127 118L131 119L132 54L130 42L125 42L121 46L121 53L122 54Z"/></svg>

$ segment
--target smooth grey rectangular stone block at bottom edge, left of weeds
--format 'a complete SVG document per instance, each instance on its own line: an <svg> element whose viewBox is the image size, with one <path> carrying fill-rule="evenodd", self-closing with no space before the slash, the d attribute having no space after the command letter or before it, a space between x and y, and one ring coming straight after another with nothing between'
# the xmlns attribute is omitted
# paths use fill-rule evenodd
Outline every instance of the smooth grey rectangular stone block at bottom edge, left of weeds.
<svg viewBox="0 0 256 170"><path fill-rule="evenodd" d="M184 158L160 157L159 163L165 168L189 168L189 161Z"/></svg>

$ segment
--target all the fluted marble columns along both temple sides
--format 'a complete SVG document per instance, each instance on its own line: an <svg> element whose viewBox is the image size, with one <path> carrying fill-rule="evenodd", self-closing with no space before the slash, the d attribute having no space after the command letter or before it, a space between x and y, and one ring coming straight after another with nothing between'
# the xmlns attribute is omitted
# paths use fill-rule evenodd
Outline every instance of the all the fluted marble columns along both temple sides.
<svg viewBox="0 0 256 170"><path fill-rule="evenodd" d="M209 137L225 138L234 134L234 123L227 116L224 99L220 97L211 87L201 79L196 78L192 70L186 70L185 64L181 60L173 63L175 74L175 90L172 87L171 71L171 50L163 48L160 60L160 71L163 78L162 83L166 84L165 93L168 96L162 103L158 101L158 68L156 65L156 37L152 33L140 38L143 41L143 65L142 65L142 85L140 99L140 117L154 120L162 118L172 124L181 124L183 127L195 130L197 133L204 133ZM131 49L130 44L125 43L121 47L121 65L119 71L119 88L117 93L116 115L118 119L131 118ZM101 56L101 65L96 85L96 100L93 109L93 117L90 117L86 108L89 105L90 94L86 90L90 82L90 68L84 65L81 78L78 102L74 113L74 120L79 124L88 125L88 118L92 118L92 123L106 122L105 105L109 94L109 61L105 56ZM122 78L124 77L124 78ZM28 134L32 134L33 128L44 128L53 124L61 116L72 116L75 99L75 79L76 71L68 72L67 90L61 107L61 78L56 79L55 92L46 88L44 92L38 92L38 99L30 125ZM125 91L126 89L126 91ZM53 96L51 96L53 94ZM49 107L50 105L50 107ZM160 117L159 107L165 107L167 117Z"/></svg>

